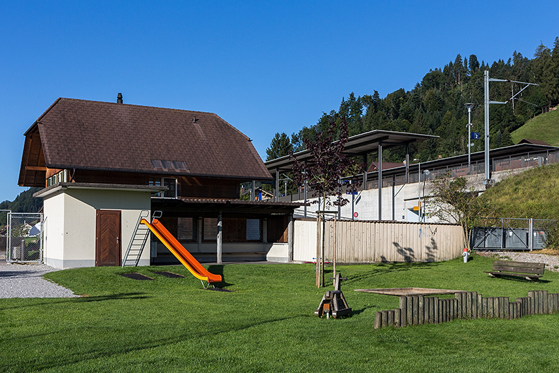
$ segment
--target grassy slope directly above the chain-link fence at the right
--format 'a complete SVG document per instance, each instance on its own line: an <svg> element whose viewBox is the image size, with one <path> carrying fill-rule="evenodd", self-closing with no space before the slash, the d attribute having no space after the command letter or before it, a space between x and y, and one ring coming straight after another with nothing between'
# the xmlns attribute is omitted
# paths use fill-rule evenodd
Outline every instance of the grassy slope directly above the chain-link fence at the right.
<svg viewBox="0 0 559 373"><path fill-rule="evenodd" d="M559 164L536 167L495 184L482 194L502 218L559 219Z"/></svg>

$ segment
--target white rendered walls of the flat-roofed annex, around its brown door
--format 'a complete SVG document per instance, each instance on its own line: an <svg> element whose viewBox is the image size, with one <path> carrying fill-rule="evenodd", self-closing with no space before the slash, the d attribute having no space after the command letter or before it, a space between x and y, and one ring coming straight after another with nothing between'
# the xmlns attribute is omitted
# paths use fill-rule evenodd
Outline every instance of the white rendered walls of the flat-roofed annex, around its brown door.
<svg viewBox="0 0 559 373"><path fill-rule="evenodd" d="M95 266L96 210L121 211L121 257L142 209L150 209L150 192L67 189L44 198L44 261L57 268ZM139 265L150 264L148 249Z"/></svg>

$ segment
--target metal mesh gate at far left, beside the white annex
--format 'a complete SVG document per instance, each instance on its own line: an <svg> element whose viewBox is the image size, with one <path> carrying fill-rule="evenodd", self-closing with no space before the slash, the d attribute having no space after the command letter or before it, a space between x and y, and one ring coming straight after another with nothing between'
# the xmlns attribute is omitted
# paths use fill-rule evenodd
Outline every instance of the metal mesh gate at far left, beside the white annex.
<svg viewBox="0 0 559 373"><path fill-rule="evenodd" d="M7 262L43 261L43 214L8 213Z"/></svg>

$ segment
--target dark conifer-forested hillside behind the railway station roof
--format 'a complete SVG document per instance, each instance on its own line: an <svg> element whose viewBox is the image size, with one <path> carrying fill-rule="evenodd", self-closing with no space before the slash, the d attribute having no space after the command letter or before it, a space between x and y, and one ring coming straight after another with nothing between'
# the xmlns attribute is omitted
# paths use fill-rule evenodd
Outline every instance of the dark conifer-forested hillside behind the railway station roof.
<svg viewBox="0 0 559 373"><path fill-rule="evenodd" d="M266 149L267 160L302 150L302 139L313 139L328 122L340 117L346 117L349 135L382 129L440 136L410 150L413 157L422 161L467 153L468 114L464 104L475 104L472 131L483 133L484 70L489 70L490 77L540 84L522 91L509 104L490 106L491 148L513 144L512 131L542 113L542 107L559 104L559 37L553 49L538 46L532 59L515 51L512 57L494 61L490 66L475 55L457 55L442 68L426 73L412 90L402 88L384 98L374 87L370 95L356 97L350 93L342 99L340 108L323 113L317 124L304 126L291 136L277 133ZM516 83L491 83L489 97L504 102L522 88ZM472 149L481 151L483 146L482 140L476 140ZM388 161L402 162L404 152L405 149L398 149L383 155Z"/></svg>

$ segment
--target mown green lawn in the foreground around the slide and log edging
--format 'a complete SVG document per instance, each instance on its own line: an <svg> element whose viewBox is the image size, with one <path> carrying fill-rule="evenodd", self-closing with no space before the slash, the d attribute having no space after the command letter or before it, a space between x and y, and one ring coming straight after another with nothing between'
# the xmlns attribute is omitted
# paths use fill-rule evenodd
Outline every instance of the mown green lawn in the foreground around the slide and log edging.
<svg viewBox="0 0 559 373"><path fill-rule="evenodd" d="M556 372L559 314L520 320L453 321L373 329L375 312L398 298L374 287L433 287L484 296L559 292L559 274L540 283L489 278L491 258L340 266L354 313L313 316L326 289L313 265L213 266L232 292L202 289L184 267L139 267L153 281L97 267L48 278L83 298L1 299L0 372ZM185 278L165 278L168 270Z"/></svg>

